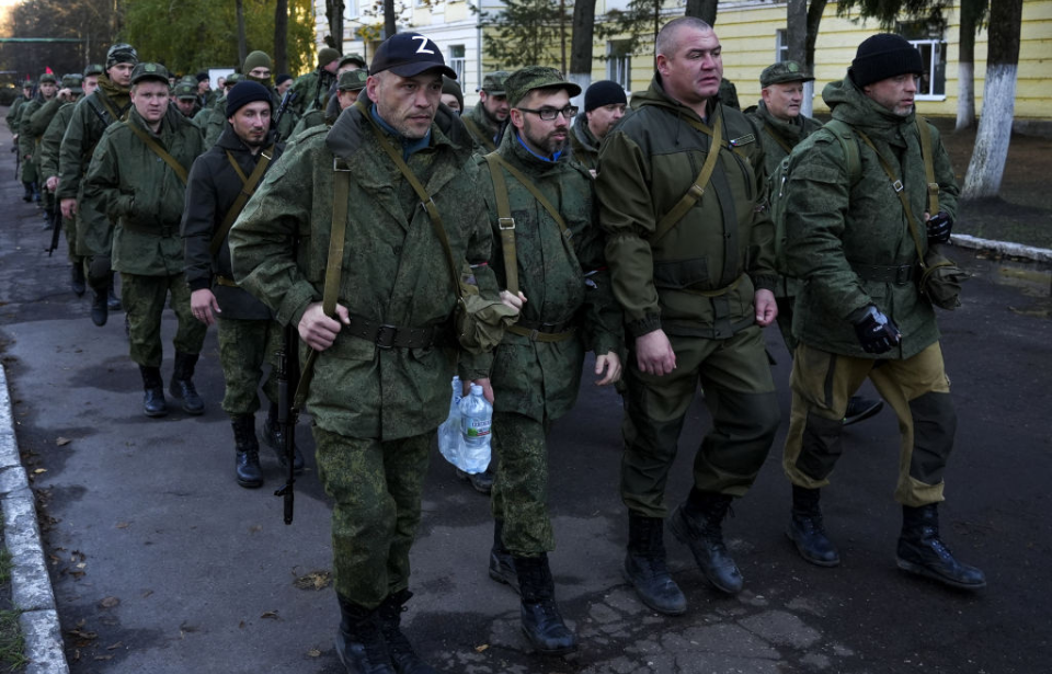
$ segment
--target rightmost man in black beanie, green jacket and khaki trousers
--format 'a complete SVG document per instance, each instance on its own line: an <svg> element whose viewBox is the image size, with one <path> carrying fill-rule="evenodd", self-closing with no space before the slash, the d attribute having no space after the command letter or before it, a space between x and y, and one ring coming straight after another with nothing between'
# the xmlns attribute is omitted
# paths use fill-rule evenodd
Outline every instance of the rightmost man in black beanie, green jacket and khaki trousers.
<svg viewBox="0 0 1052 674"><path fill-rule="evenodd" d="M921 54L902 37L867 38L847 77L822 92L850 137L826 127L792 155L786 262L803 285L792 322L800 345L784 457L792 482L788 535L805 560L839 563L823 526L820 489L843 452L847 399L868 377L899 418L899 568L974 590L985 586L985 575L959 562L939 536L957 416L935 311L917 276L919 249L926 254L949 240L958 187L938 132L916 117L923 72ZM859 152L855 171L848 142ZM928 206L928 167L938 184L936 214Z"/></svg>

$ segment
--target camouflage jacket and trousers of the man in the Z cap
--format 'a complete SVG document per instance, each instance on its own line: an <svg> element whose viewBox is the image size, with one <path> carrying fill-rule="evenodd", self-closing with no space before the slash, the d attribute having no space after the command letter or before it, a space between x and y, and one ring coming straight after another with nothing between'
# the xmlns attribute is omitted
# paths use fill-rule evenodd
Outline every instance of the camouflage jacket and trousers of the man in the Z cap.
<svg viewBox="0 0 1052 674"><path fill-rule="evenodd" d="M456 304L449 263L420 199L374 137L369 118L378 117L366 105L359 101L331 130L310 129L288 148L235 225L230 247L235 279L279 322L298 324L308 305L322 298L334 160L345 162L348 244L339 302L366 328L398 328L365 329L363 339L344 325L318 354L307 407L319 477L334 500L335 587L371 609L408 586L421 484L435 429L448 411L457 353L443 341L451 336ZM385 133L396 147L407 147L397 134ZM471 148L464 126L439 108L428 136L408 152L405 161L442 215L455 259L488 261L492 238L478 199L478 169L465 170ZM495 295L488 267L478 267L476 277ZM432 336L420 347L377 345L410 328Z"/></svg>

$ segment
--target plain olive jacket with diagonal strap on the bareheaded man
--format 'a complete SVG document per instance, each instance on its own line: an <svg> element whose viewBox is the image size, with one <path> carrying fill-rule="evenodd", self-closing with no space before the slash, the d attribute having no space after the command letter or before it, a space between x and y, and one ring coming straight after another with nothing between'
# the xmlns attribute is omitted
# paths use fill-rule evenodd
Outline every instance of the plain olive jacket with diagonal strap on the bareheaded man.
<svg viewBox="0 0 1052 674"><path fill-rule="evenodd" d="M754 324L755 290L777 281L763 147L744 114L710 102L709 122L719 116L723 149L712 178L658 241L658 222L687 193L711 147L712 137L691 124L710 124L670 98L655 75L603 140L599 219L614 295L632 338L662 329L728 339Z"/></svg>

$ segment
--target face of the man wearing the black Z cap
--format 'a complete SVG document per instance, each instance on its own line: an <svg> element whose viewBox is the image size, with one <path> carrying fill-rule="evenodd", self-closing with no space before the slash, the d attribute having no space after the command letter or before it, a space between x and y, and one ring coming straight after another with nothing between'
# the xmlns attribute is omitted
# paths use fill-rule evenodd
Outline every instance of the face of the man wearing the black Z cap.
<svg viewBox="0 0 1052 674"><path fill-rule="evenodd" d="M376 111L395 130L412 139L427 135L442 99L439 72L422 72L415 77L379 72L369 76L366 88L369 99L376 101Z"/></svg>

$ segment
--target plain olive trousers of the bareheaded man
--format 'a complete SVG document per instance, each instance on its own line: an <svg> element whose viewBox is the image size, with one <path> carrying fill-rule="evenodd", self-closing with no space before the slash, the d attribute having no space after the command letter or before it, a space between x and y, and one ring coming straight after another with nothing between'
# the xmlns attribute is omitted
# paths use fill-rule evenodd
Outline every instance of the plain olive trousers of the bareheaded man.
<svg viewBox="0 0 1052 674"><path fill-rule="evenodd" d="M712 429L694 459L694 485L700 491L745 495L767 458L780 418L759 328L728 340L668 339L676 354L672 373L642 373L634 354L629 354L626 368L621 499L647 517L668 514L668 470L698 384L712 415Z"/></svg>

